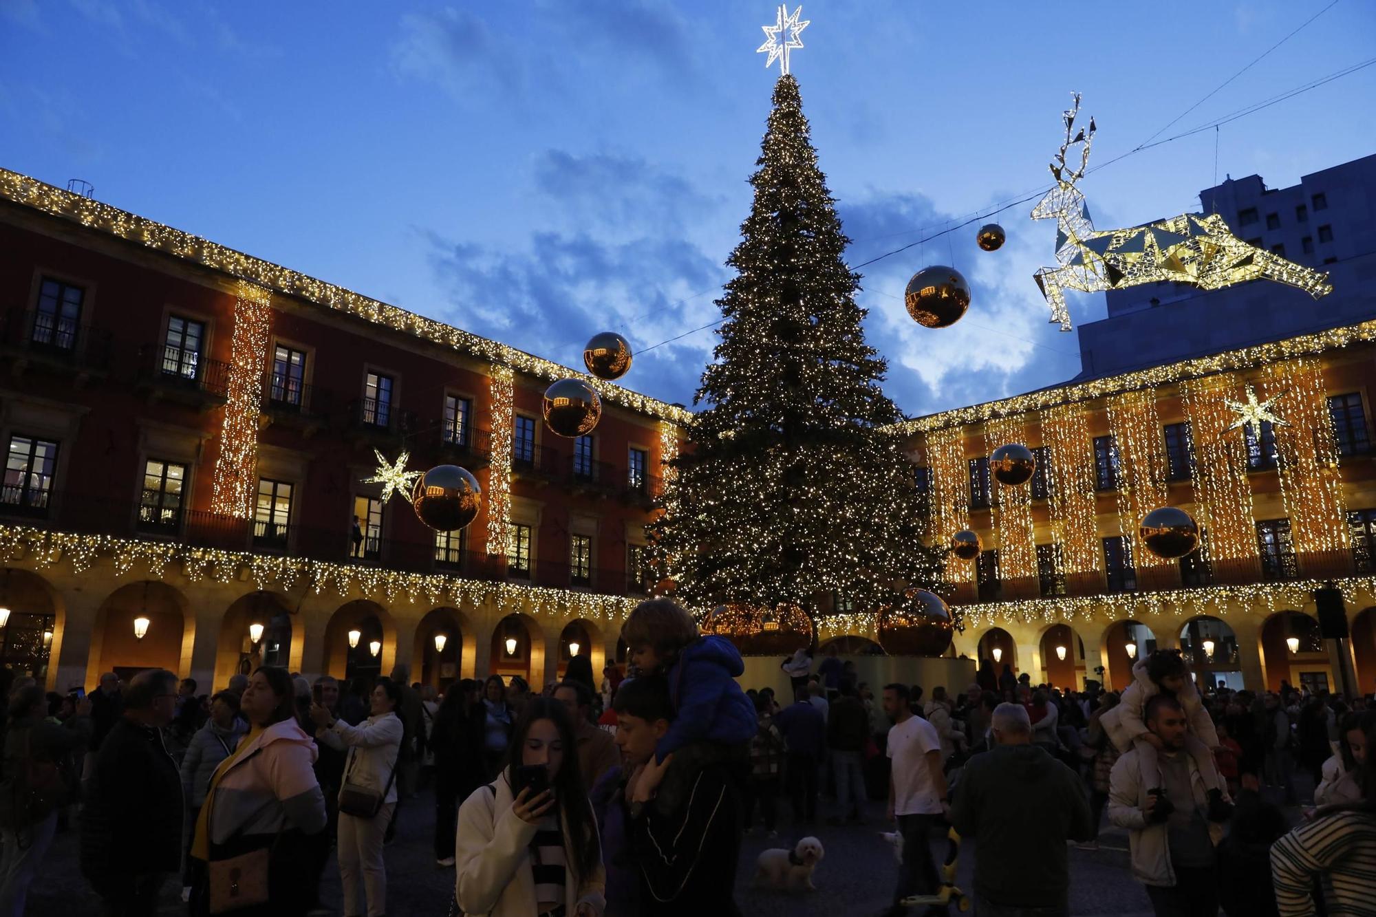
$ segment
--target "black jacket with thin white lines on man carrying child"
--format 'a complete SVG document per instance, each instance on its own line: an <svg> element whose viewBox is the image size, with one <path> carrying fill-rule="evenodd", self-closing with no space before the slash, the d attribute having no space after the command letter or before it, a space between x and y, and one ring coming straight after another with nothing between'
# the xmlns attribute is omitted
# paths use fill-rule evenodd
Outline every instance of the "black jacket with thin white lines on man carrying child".
<svg viewBox="0 0 1376 917"><path fill-rule="evenodd" d="M673 771L677 759L670 763ZM663 794L632 814L632 850L640 863L641 913L655 917L739 917L736 863L740 859L740 803L731 770L700 768L685 775L682 804L659 808Z"/></svg>

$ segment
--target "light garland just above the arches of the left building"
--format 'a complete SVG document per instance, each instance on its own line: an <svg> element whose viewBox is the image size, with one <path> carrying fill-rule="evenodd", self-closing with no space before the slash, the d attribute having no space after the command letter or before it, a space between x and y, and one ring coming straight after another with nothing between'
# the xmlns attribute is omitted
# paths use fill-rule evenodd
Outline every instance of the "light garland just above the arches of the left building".
<svg viewBox="0 0 1376 917"><path fill-rule="evenodd" d="M316 595L326 588L333 588L341 596L358 589L369 599L384 598L392 602L398 596L406 596L409 603L416 603L424 598L431 604L447 600L455 607L462 607L465 600L471 604L491 602L502 614L534 611L549 615L621 621L640 602L637 598L491 582L442 573L402 573L381 567L356 567L250 551L189 548L166 541L73 534L0 525L0 563L29 560L41 570L67 560L73 573L81 574L89 570L100 556L111 558L117 577L129 573L136 563L142 562L149 574L158 580L165 577L168 567L176 566L190 582L250 580L259 589L277 585L285 592L300 584L307 584Z"/></svg>

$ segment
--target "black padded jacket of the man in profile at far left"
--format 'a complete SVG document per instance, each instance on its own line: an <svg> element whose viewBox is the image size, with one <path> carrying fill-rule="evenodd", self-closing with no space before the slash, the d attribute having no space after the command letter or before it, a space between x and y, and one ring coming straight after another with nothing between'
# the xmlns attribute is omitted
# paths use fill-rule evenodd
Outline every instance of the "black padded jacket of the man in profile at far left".
<svg viewBox="0 0 1376 917"><path fill-rule="evenodd" d="M121 719L110 730L81 810L81 873L100 892L113 877L182 865L182 775L160 730Z"/></svg>

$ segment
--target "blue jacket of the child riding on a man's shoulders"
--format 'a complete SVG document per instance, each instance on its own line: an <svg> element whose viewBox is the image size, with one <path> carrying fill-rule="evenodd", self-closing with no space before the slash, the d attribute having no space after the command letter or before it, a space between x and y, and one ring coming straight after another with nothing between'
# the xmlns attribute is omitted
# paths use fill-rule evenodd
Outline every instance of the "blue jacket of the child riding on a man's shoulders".
<svg viewBox="0 0 1376 917"><path fill-rule="evenodd" d="M662 761L688 742L749 742L758 724L755 705L736 683L744 671L740 653L725 637L702 636L685 646L669 668L674 721L655 745L655 757Z"/></svg>

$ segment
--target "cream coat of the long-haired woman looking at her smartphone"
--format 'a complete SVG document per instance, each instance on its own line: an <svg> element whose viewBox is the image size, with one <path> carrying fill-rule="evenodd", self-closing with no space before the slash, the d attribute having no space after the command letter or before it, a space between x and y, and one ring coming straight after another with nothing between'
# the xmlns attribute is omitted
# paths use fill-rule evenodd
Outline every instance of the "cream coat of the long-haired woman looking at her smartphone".
<svg viewBox="0 0 1376 917"><path fill-rule="evenodd" d="M512 811L515 800L505 771L493 782L493 790L479 786L458 810L454 896L466 917L531 917L538 906L535 874L530 863L530 843L535 840L535 826ZM566 851L583 843L568 837L567 823L561 826ZM597 830L596 823L592 823L592 829ZM578 905L585 902L600 914L607 906L603 896L607 874L601 862L592 876L579 877L575 883L572 856L568 859L568 881L564 885L567 917L574 917Z"/></svg>

